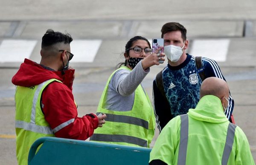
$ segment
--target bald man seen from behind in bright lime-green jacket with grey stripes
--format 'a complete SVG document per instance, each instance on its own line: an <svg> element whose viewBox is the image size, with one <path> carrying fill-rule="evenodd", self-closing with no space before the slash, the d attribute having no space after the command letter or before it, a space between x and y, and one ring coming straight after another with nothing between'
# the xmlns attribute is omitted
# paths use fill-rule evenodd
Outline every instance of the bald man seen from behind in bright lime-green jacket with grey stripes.
<svg viewBox="0 0 256 165"><path fill-rule="evenodd" d="M249 142L224 114L229 88L205 79L195 109L170 120L150 153L149 165L255 165Z"/></svg>

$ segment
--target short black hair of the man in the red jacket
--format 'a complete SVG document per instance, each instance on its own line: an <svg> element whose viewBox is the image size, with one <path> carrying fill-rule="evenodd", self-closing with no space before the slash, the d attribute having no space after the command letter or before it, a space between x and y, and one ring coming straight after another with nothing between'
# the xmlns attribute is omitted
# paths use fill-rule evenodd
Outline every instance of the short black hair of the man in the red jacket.
<svg viewBox="0 0 256 165"><path fill-rule="evenodd" d="M52 46L55 43L62 43L64 42L65 44L70 44L73 41L72 37L70 34L66 33L63 34L58 31L53 31L52 29L48 29L44 36L42 37L42 44L41 48L47 47L47 46Z"/></svg>

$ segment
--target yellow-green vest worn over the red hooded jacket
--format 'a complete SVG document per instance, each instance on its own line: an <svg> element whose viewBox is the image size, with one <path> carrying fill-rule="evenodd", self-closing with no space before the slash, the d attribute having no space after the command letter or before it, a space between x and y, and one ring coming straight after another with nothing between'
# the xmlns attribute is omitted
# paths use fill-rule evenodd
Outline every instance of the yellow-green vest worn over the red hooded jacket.
<svg viewBox="0 0 256 165"><path fill-rule="evenodd" d="M17 86L15 93L16 154L19 165L28 164L29 149L40 137L54 137L49 123L44 119L40 100L44 88L57 79L47 80L39 85Z"/></svg>

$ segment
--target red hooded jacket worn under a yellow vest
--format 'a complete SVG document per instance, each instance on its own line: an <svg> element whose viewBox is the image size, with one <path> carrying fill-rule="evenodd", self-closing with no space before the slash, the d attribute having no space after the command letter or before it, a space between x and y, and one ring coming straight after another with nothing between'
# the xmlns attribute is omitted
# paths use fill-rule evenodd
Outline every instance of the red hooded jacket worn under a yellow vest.
<svg viewBox="0 0 256 165"><path fill-rule="evenodd" d="M55 136L85 140L93 135L99 121L95 114L77 117L77 108L72 94L74 72L75 70L70 69L62 75L61 71L50 71L31 60L25 59L24 63L20 65L20 69L12 77L12 83L27 87L41 84L49 79L61 80L63 84L54 81L42 93L44 117L52 129L70 119L75 119L71 124L55 132Z"/></svg>

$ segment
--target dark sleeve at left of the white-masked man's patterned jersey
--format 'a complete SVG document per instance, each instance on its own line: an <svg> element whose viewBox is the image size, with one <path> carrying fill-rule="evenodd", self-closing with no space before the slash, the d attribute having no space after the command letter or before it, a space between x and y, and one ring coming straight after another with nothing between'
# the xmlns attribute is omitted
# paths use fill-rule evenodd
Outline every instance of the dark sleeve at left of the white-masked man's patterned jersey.
<svg viewBox="0 0 256 165"><path fill-rule="evenodd" d="M153 81L154 114L157 120L157 128L161 132L163 127L172 119L169 102L157 88L156 79Z"/></svg>

